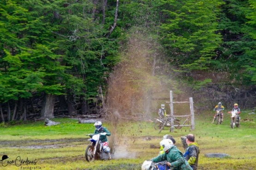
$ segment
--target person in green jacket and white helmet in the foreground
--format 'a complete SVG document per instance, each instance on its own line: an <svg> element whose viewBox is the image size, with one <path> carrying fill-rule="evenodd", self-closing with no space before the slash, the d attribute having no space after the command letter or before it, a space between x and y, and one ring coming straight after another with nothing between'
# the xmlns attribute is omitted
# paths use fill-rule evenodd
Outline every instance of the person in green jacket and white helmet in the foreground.
<svg viewBox="0 0 256 170"><path fill-rule="evenodd" d="M165 152L155 158L150 159L152 162L167 161L166 164L172 170L193 170L188 162L185 160L183 153L173 145L170 139L164 139L160 142Z"/></svg>

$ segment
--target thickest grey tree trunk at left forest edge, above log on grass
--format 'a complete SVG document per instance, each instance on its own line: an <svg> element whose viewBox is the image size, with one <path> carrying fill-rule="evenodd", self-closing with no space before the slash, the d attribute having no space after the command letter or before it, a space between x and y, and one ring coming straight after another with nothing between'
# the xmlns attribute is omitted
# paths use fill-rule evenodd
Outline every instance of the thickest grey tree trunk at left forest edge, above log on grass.
<svg viewBox="0 0 256 170"><path fill-rule="evenodd" d="M56 96L53 94L44 94L41 117L54 117L54 103Z"/></svg>

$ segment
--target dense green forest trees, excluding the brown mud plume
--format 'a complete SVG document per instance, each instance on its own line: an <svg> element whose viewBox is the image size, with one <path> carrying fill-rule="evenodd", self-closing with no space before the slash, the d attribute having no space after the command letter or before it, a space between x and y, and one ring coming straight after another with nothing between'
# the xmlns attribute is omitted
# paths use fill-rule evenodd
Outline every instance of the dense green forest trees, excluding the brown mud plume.
<svg viewBox="0 0 256 170"><path fill-rule="evenodd" d="M137 32L159 42L172 74L193 89L213 83L190 76L198 70L254 89L255 16L254 0L1 0L1 120L26 120L37 109L54 117L56 101L69 115L90 112Z"/></svg>

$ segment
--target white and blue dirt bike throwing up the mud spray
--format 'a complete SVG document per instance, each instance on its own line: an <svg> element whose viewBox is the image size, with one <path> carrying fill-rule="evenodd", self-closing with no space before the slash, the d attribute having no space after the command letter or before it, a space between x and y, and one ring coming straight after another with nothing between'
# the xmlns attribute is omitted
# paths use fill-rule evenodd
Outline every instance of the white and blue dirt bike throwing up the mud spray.
<svg viewBox="0 0 256 170"><path fill-rule="evenodd" d="M100 141L100 135L101 134L89 134L90 139L88 141L90 141L90 145L88 145L85 149L85 159L88 162L92 162L94 160L109 159L109 153L106 153L103 150L103 145Z"/></svg>

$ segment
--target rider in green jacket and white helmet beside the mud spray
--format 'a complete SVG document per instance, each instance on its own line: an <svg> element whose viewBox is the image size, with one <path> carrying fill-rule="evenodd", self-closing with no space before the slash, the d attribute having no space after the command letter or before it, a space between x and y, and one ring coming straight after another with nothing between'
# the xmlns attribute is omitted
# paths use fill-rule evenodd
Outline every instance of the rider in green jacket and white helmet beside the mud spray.
<svg viewBox="0 0 256 170"><path fill-rule="evenodd" d="M94 126L95 126L95 131L93 135L100 134L100 141L102 142L103 150L104 152L108 153L109 159L111 159L110 147L108 147L108 142L107 142L107 136L110 136L111 133L107 130L107 128L102 126L101 121L95 122Z"/></svg>

